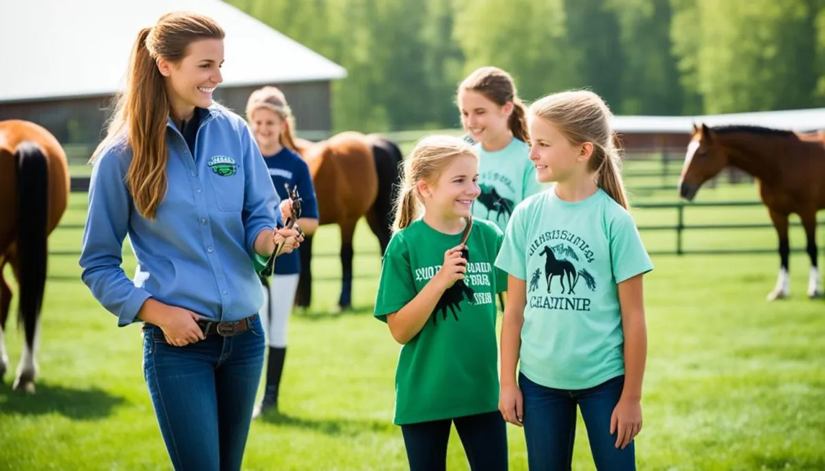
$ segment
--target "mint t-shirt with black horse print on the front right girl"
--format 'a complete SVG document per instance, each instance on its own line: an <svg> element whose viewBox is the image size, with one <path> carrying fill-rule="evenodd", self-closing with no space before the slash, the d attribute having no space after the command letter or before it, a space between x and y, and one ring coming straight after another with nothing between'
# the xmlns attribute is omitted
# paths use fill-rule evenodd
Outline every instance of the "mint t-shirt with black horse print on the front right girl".
<svg viewBox="0 0 825 471"><path fill-rule="evenodd" d="M618 283L653 263L629 212L602 189L578 202L554 189L516 207L496 266L526 282L520 371L586 389L625 372Z"/></svg>

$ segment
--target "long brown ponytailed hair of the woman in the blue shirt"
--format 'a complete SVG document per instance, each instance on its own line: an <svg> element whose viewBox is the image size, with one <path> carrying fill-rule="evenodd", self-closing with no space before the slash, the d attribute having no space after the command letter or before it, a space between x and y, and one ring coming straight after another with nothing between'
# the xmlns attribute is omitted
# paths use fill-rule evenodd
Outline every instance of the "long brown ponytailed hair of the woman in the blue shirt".
<svg viewBox="0 0 825 471"><path fill-rule="evenodd" d="M117 97L106 138L92 154L94 161L125 133L132 151L126 186L134 208L148 219L154 219L167 188L166 125L171 109L157 61L180 63L189 44L205 39L223 40L224 30L211 18L191 12L167 13L155 26L140 30L125 91Z"/></svg>

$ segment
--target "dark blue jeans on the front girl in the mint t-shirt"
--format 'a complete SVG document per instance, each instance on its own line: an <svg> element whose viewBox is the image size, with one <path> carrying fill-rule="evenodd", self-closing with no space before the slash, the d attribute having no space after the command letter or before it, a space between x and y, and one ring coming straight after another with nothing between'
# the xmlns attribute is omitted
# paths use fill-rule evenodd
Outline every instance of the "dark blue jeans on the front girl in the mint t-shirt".
<svg viewBox="0 0 825 471"><path fill-rule="evenodd" d="M610 434L610 416L624 385L625 376L621 375L588 389L554 389L519 373L528 467L548 471L571 468L578 406L596 469L636 469L634 441L622 450L615 447L617 435Z"/></svg>

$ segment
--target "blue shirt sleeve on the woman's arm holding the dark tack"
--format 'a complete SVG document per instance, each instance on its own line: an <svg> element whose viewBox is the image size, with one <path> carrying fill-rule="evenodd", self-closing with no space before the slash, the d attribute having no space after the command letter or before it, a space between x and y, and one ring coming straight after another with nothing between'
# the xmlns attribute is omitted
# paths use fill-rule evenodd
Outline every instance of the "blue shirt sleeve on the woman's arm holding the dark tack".
<svg viewBox="0 0 825 471"><path fill-rule="evenodd" d="M278 211L281 198L278 198L269 170L266 169L266 162L248 126L243 126L241 143L243 167L246 170L243 189L243 229L246 232L249 256L255 260L258 258L255 252L257 235L266 229L274 231L276 222L281 221Z"/></svg>

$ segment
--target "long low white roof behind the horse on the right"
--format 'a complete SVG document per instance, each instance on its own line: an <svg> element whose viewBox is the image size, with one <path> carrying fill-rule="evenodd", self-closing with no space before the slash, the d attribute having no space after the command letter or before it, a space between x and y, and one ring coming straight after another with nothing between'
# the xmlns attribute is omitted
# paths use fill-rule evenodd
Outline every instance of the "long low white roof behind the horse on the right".
<svg viewBox="0 0 825 471"><path fill-rule="evenodd" d="M683 134L691 133L693 124L703 123L708 126L751 124L790 131L810 131L825 128L825 108L698 116L615 116L613 128L616 132L627 134Z"/></svg>

